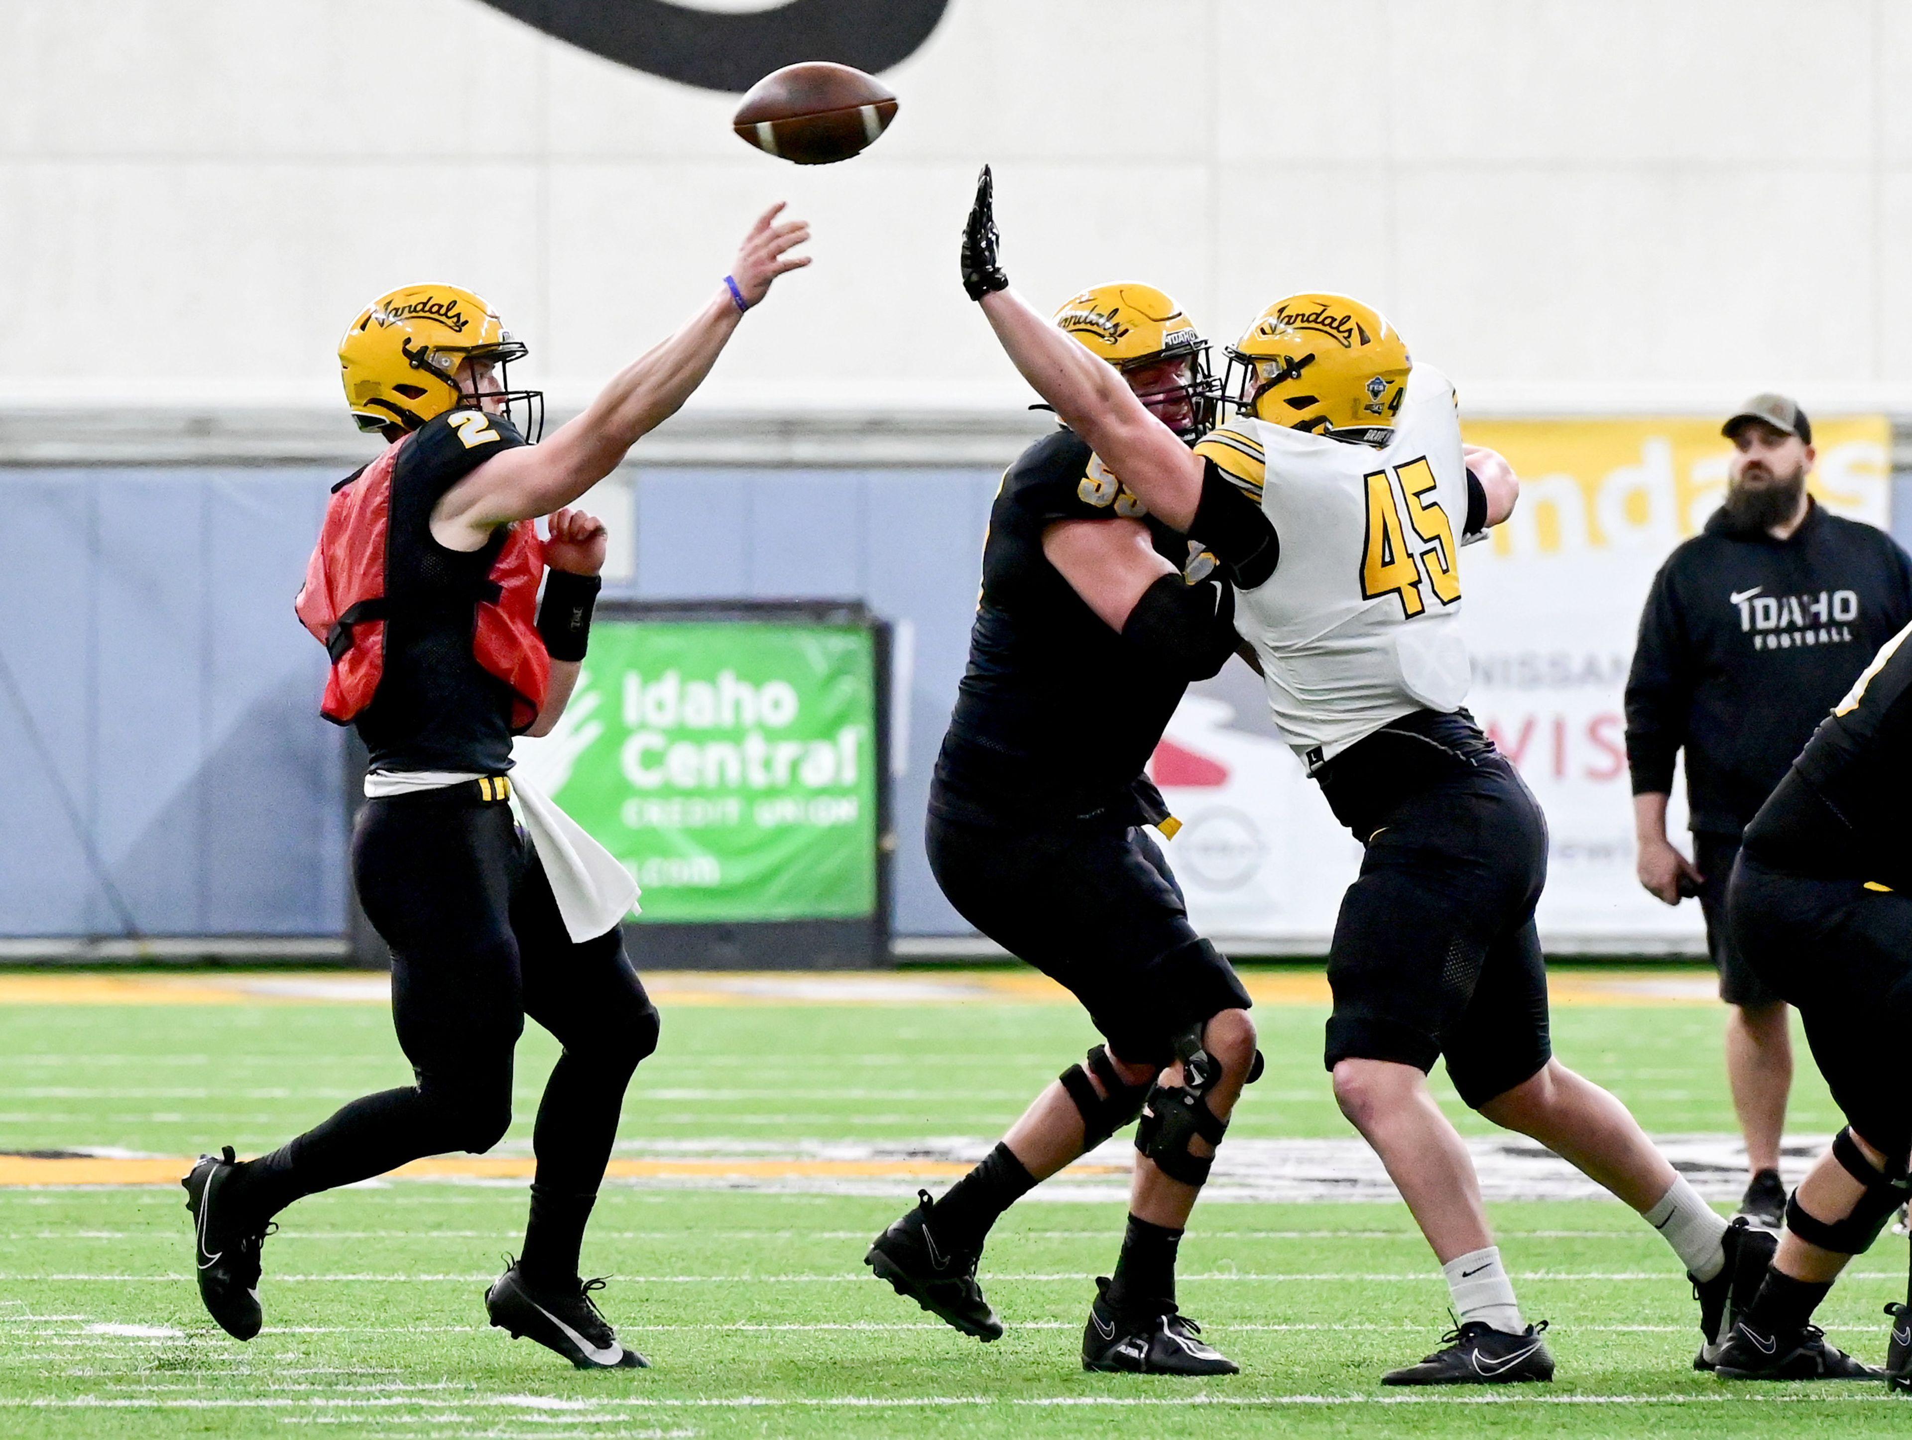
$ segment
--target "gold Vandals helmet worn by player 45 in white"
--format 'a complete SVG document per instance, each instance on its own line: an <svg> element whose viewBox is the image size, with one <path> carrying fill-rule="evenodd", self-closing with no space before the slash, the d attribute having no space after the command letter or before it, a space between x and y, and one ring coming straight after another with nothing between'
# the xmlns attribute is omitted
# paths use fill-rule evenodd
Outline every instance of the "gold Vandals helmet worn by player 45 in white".
<svg viewBox="0 0 1912 1440"><path fill-rule="evenodd" d="M1270 425L1386 446L1413 369L1386 317L1346 295L1291 295L1228 352L1228 404Z"/></svg>

